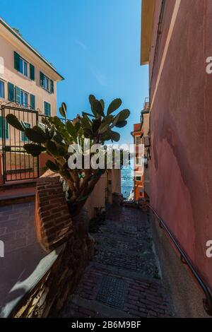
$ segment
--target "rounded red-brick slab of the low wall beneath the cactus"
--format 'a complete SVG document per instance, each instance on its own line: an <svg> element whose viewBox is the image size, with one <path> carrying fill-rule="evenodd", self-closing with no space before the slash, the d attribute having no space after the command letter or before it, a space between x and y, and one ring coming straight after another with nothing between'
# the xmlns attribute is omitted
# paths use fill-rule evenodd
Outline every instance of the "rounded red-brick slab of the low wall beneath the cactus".
<svg viewBox="0 0 212 332"><path fill-rule="evenodd" d="M37 179L35 228L43 249L52 251L73 232L59 175L47 171Z"/></svg>

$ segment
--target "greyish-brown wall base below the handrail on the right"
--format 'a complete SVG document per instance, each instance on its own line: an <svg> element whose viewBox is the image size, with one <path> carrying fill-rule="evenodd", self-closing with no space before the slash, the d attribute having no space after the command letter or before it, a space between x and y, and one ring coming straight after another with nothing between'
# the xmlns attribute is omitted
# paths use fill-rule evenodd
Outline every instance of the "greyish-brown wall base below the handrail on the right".
<svg viewBox="0 0 212 332"><path fill-rule="evenodd" d="M150 213L153 240L157 251L165 284L168 285L177 317L209 318L204 310L204 294L181 262L170 239L160 228L157 218Z"/></svg>

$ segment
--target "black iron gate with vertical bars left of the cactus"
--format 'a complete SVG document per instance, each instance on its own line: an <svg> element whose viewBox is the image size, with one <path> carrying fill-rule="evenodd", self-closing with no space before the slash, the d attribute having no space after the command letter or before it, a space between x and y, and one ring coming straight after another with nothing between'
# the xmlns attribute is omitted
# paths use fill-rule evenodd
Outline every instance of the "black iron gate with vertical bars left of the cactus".
<svg viewBox="0 0 212 332"><path fill-rule="evenodd" d="M3 157L4 183L22 179L36 179L39 177L39 158L28 155L23 146L29 143L25 134L13 128L6 121L7 114L14 114L32 128L38 124L39 114L28 108L15 105L0 106L0 149Z"/></svg>

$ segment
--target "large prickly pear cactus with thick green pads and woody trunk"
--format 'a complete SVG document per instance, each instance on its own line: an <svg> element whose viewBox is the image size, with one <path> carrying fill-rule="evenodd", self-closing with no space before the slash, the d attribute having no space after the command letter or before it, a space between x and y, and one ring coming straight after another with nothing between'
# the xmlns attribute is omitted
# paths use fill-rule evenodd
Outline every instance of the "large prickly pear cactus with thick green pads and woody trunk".
<svg viewBox="0 0 212 332"><path fill-rule="evenodd" d="M114 127L124 127L129 117L129 109L116 112L122 105L122 100L113 100L107 110L105 102L97 100L94 95L89 96L91 112L82 112L73 121L67 120L66 104L63 102L59 108L61 117L43 117L42 124L27 128L13 114L8 114L6 119L16 129L23 131L29 143L23 147L30 155L36 157L46 152L53 160L47 160L46 167L59 173L66 187L66 198L69 202L71 214L81 211L86 199L93 191L105 168L86 167L95 153L90 153L96 144L105 146L106 141L119 141L120 135ZM89 140L89 148L85 148ZM70 146L77 147L81 155L81 165L70 167L70 157L76 156ZM89 150L89 154L88 154ZM76 151L75 151L76 152ZM105 155L107 158L107 153Z"/></svg>

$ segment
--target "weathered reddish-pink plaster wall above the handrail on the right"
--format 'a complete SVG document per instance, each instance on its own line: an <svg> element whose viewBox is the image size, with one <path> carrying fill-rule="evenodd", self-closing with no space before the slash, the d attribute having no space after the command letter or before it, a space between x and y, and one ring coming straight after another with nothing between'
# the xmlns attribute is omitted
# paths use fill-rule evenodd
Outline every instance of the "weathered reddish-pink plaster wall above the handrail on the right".
<svg viewBox="0 0 212 332"><path fill-rule="evenodd" d="M165 1L151 100L173 4ZM154 31L157 24L155 20ZM212 287L212 259L206 257L206 242L212 239L212 75L206 73L211 26L212 1L181 1L151 109L150 196L153 208Z"/></svg>

